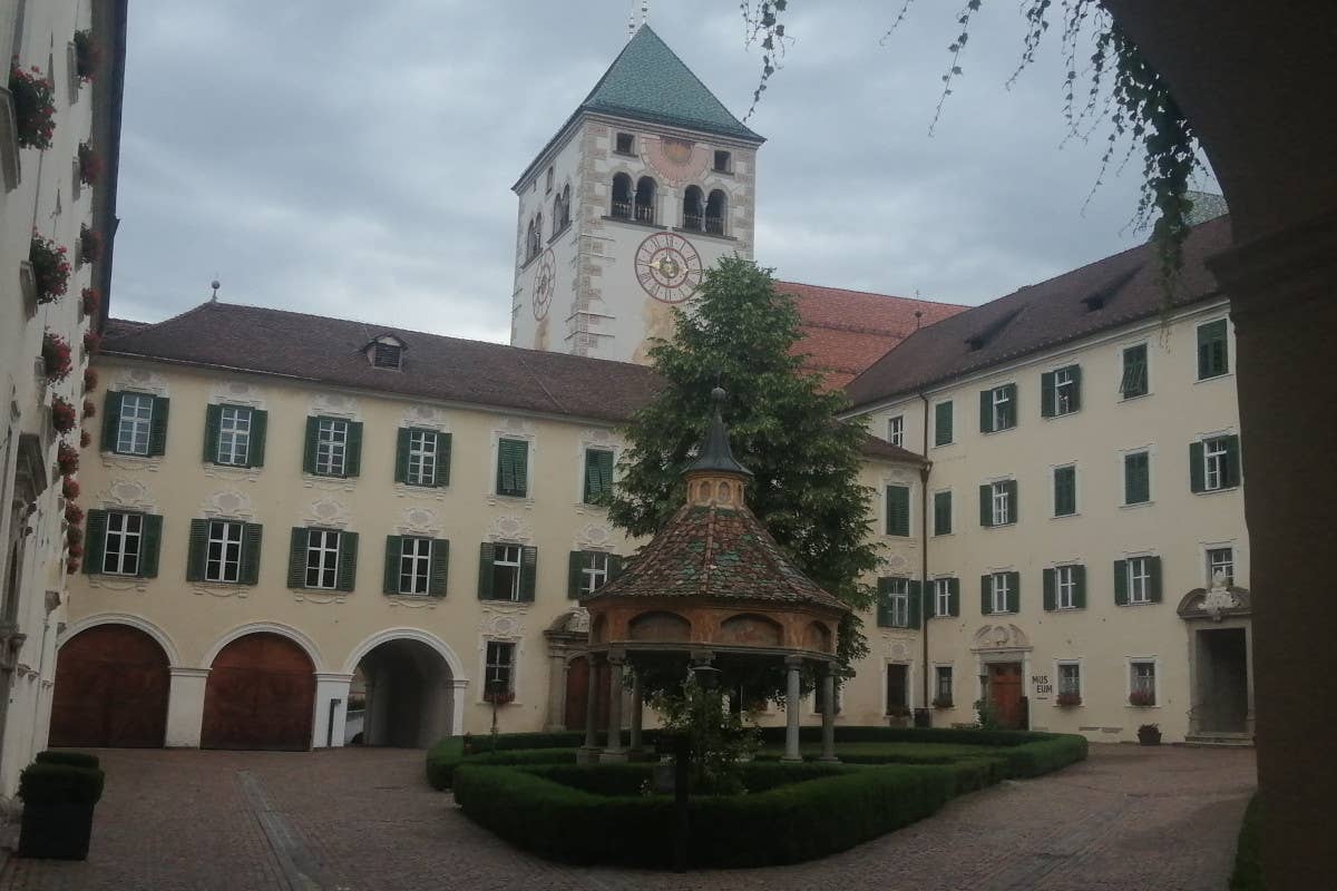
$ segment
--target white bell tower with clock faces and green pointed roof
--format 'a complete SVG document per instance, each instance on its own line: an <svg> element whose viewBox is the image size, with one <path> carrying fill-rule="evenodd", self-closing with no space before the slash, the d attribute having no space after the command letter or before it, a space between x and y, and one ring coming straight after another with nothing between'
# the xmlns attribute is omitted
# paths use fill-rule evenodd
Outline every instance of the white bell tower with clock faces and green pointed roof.
<svg viewBox="0 0 1337 891"><path fill-rule="evenodd" d="M511 345L648 362L703 271L753 255L762 142L640 25L512 187Z"/></svg>

